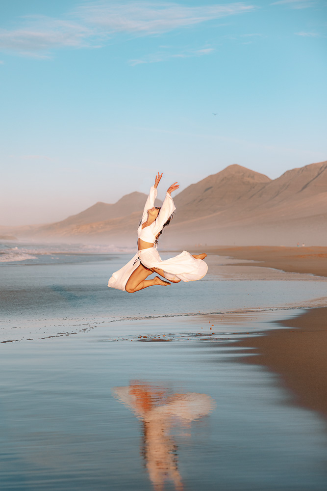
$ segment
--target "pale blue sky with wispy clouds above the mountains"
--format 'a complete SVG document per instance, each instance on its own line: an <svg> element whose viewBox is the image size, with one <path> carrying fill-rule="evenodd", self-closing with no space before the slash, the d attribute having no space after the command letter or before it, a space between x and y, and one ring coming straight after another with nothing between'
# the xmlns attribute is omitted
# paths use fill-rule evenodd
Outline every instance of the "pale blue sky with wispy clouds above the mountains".
<svg viewBox="0 0 327 491"><path fill-rule="evenodd" d="M327 160L327 1L0 1L0 225Z"/></svg>

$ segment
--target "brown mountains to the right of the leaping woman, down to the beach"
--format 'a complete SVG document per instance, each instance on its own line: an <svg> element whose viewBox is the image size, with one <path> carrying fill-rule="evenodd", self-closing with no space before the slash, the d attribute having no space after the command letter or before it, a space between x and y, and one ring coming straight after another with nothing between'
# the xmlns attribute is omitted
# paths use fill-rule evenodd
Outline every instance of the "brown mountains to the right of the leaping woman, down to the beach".
<svg viewBox="0 0 327 491"><path fill-rule="evenodd" d="M175 202L181 207L170 229L174 240L179 244L294 245L300 241L327 245L327 162L289 170L275 180L257 173L251 176L245 170L242 175L242 167L229 166L201 181L207 188L212 186L212 196L206 196L207 188L200 195L200 183L179 193ZM230 173L231 180L226 182L223 177L226 174L228 179ZM227 190L222 189L225 183Z"/></svg>

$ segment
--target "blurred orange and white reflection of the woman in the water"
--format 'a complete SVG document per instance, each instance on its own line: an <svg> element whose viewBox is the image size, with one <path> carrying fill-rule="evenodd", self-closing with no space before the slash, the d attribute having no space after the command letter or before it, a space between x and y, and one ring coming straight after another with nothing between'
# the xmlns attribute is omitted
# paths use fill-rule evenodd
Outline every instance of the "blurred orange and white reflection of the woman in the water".
<svg viewBox="0 0 327 491"><path fill-rule="evenodd" d="M192 422L212 411L211 397L197 392L174 394L168 387L137 380L127 387L113 388L113 393L142 420L141 454L155 491L162 491L165 481L174 483L175 490L182 490L178 447L172 431L190 428Z"/></svg>

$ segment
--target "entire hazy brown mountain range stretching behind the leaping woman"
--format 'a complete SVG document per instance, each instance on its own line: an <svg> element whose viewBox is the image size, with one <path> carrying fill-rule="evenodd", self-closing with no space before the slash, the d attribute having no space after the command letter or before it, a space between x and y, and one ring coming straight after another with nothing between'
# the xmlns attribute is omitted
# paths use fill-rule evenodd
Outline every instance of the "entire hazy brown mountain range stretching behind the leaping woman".
<svg viewBox="0 0 327 491"><path fill-rule="evenodd" d="M146 197L133 192L115 204L99 202L57 223L0 227L0 233L133 246ZM229 165L181 191L174 201L176 216L160 238L163 247L327 245L327 162L289 170L275 180Z"/></svg>

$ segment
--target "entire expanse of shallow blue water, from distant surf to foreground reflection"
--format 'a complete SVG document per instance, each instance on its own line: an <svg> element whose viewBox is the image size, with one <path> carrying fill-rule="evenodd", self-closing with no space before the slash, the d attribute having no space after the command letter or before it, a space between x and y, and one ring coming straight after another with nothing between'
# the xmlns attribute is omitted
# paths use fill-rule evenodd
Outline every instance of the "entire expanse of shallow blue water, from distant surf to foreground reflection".
<svg viewBox="0 0 327 491"><path fill-rule="evenodd" d="M326 281L127 295L106 287L126 254L46 256L0 268L1 336L23 339L0 344L1 490L326 489L326 422L228 344Z"/></svg>

